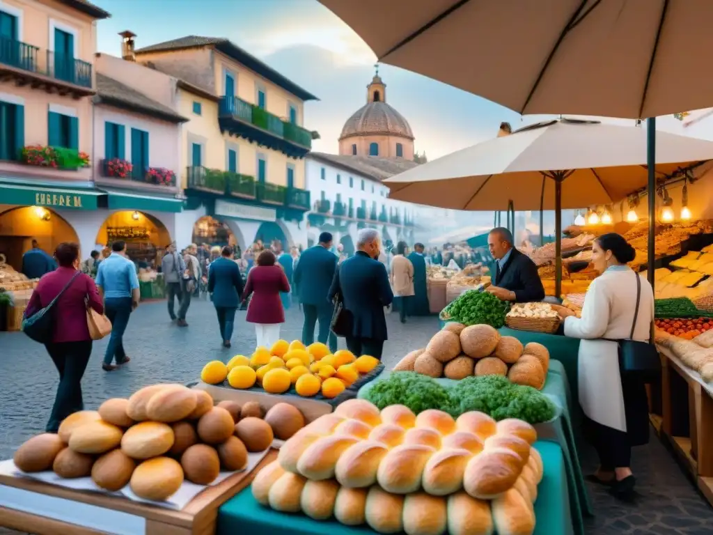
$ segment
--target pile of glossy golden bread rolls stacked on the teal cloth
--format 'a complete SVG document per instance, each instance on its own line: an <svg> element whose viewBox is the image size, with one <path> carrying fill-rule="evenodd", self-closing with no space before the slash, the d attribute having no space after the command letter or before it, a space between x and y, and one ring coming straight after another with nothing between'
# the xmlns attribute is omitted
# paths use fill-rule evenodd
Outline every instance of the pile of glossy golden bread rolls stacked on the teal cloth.
<svg viewBox="0 0 713 535"><path fill-rule="evenodd" d="M543 477L535 429L481 412L379 409L352 399L314 420L252 483L255 499L313 519L407 535L531 535Z"/></svg>

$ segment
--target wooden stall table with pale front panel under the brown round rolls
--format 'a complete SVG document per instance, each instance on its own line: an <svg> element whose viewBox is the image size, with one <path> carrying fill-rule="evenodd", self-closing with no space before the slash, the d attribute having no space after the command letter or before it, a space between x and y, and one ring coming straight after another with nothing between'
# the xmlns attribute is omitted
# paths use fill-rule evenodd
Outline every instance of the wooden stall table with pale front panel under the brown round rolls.
<svg viewBox="0 0 713 535"><path fill-rule="evenodd" d="M180 511L120 496L0 475L0 526L39 535L212 535L218 508L275 458L207 486Z"/></svg>

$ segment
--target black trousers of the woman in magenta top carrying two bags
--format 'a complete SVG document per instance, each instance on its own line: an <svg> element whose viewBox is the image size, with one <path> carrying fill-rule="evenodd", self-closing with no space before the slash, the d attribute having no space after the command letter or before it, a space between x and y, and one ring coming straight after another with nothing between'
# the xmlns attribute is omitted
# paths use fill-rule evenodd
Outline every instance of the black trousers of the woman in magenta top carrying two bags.
<svg viewBox="0 0 713 535"><path fill-rule="evenodd" d="M56 433L63 419L84 409L81 382L91 356L91 345L91 340L45 345L59 372L59 385L47 422L47 432Z"/></svg>

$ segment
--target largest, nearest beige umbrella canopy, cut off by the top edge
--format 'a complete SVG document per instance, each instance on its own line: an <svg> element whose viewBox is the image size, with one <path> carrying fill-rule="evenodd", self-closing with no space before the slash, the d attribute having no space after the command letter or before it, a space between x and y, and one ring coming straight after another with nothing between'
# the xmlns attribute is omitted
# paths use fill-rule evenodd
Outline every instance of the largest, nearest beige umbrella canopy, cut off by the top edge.
<svg viewBox="0 0 713 535"><path fill-rule="evenodd" d="M518 111L647 118L711 106L710 0L319 0L379 61ZM694 73L694 83L682 80Z"/></svg>

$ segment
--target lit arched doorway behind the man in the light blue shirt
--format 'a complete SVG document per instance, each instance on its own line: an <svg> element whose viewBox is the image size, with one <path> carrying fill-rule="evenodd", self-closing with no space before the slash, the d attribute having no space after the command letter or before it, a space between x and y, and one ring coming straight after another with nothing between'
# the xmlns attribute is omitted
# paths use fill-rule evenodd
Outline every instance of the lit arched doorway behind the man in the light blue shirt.
<svg viewBox="0 0 713 535"><path fill-rule="evenodd" d="M158 266L163 251L173 241L163 223L153 215L136 210L111 214L96 235L96 243L106 247L118 240L126 242L128 258L140 267L151 268Z"/></svg>

